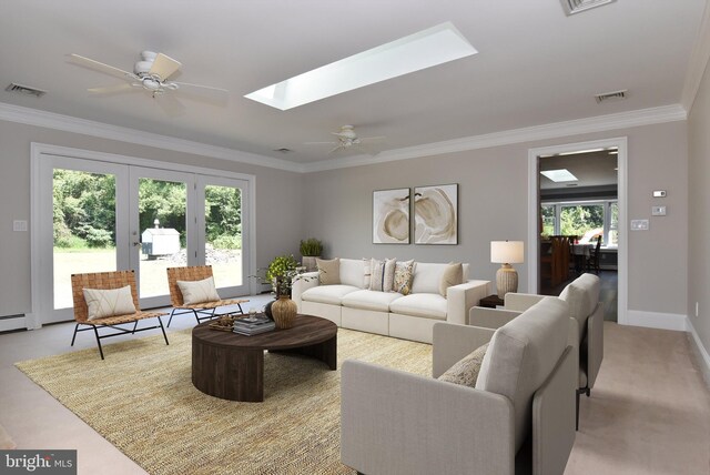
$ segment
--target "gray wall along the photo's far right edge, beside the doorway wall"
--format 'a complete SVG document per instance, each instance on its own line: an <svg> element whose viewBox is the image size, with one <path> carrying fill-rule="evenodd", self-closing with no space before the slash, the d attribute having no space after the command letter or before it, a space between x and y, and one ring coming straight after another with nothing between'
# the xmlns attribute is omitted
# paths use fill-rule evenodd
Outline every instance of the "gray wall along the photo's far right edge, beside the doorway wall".
<svg viewBox="0 0 710 475"><path fill-rule="evenodd" d="M688 316L710 351L710 70L706 70L690 111L688 137Z"/></svg>

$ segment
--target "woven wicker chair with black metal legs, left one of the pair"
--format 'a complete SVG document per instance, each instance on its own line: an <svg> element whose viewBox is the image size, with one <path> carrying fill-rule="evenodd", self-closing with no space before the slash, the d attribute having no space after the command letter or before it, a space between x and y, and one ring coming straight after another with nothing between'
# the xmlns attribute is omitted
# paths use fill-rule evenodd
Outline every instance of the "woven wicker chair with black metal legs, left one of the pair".
<svg viewBox="0 0 710 475"><path fill-rule="evenodd" d="M87 305L87 301L84 300L84 289L99 289L99 290L109 290L109 289L121 289L126 285L131 286L131 295L133 296L133 305L135 306L135 313L126 314L126 315L115 315L115 316L104 316L101 319L89 320L89 307ZM111 336L125 335L125 334L134 334L138 332L144 332L146 330L160 329L163 332L163 337L165 338L165 344L169 345L168 335L165 334L165 329L163 327L163 322L161 321L161 316L168 315L163 312L142 312L141 307L138 303L138 287L135 285L135 273L134 271L115 271L115 272L99 272L99 273L90 273L90 274L72 274L71 276L71 289L72 295L74 300L74 320L77 321L77 325L74 326L74 335L71 338L71 346L74 346L74 341L77 340L78 332L85 332L93 330L94 335L97 336L97 346L99 347L99 354L101 354L101 360L103 357L103 348L101 347L101 340L108 338ZM159 325L146 326L142 329L138 329L138 322L144 319L158 319ZM123 324L133 324L132 329L125 329L116 325ZM80 325L87 326L80 329ZM114 333L109 334L99 334L99 329L110 327L115 330Z"/></svg>

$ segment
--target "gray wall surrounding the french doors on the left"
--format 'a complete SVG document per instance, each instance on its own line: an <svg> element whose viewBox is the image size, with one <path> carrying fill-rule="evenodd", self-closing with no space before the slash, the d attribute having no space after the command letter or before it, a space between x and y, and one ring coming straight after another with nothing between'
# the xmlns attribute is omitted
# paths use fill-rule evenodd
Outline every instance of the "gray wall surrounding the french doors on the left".
<svg viewBox="0 0 710 475"><path fill-rule="evenodd" d="M257 266L267 265L278 254L298 253L304 238L304 176L300 173L0 121L0 316L31 310L30 233L12 231L13 220L30 221L31 142L255 175Z"/></svg>

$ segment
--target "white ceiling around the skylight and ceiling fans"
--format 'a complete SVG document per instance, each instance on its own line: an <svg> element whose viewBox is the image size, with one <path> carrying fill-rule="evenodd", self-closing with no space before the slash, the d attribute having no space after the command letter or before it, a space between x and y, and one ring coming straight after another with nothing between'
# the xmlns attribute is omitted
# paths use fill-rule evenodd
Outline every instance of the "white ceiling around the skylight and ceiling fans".
<svg viewBox="0 0 710 475"><path fill-rule="evenodd" d="M618 0L567 17L559 0L3 0L0 102L304 164L346 156L303 144L343 124L386 135L386 151L678 104L706 2ZM479 53L288 111L243 98L445 21ZM67 60L131 70L145 49L183 63L172 79L230 90L227 103L184 99L171 118L143 93L92 97L121 80ZM594 99L620 89L628 99Z"/></svg>

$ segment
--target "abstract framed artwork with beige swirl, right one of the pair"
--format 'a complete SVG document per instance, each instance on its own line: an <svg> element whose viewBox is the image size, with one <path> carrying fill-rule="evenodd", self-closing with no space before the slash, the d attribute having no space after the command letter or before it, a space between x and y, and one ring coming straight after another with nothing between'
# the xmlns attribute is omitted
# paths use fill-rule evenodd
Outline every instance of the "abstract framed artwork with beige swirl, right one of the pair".
<svg viewBox="0 0 710 475"><path fill-rule="evenodd" d="M458 244L458 183L414 189L414 243Z"/></svg>

